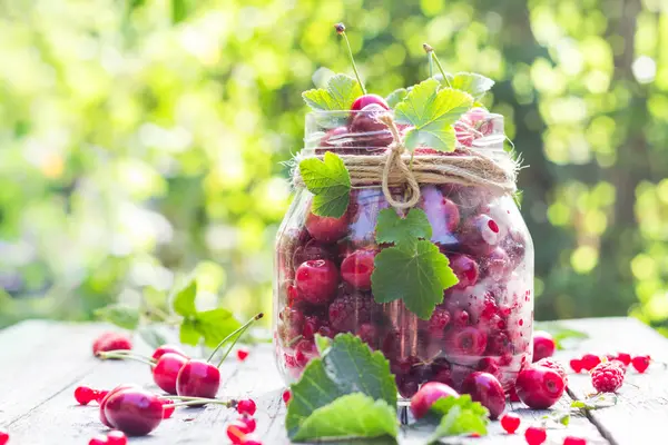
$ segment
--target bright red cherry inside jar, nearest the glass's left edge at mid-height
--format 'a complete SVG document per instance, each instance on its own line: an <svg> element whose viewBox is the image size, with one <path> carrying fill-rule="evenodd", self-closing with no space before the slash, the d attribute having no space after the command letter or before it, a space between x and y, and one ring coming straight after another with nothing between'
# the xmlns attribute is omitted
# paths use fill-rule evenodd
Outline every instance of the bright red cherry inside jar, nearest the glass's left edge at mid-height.
<svg viewBox="0 0 668 445"><path fill-rule="evenodd" d="M332 299L338 287L338 270L328 259L310 260L297 267L295 280L304 299L322 305Z"/></svg>

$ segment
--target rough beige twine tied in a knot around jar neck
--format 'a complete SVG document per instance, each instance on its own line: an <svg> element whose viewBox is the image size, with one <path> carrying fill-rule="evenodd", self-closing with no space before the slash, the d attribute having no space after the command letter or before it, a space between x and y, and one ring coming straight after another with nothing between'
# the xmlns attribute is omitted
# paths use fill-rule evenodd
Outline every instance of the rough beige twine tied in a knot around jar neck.
<svg viewBox="0 0 668 445"><path fill-rule="evenodd" d="M517 191L519 162L510 156L492 158L465 146L450 156L411 156L391 115L376 117L392 134L385 156L338 155L351 176L353 188L381 186L387 202L397 209L414 207L420 201L421 184L458 184L495 189L500 194ZM323 156L315 156L323 159ZM305 187L298 168L293 170L293 185ZM395 199L391 188L405 187L403 200Z"/></svg>

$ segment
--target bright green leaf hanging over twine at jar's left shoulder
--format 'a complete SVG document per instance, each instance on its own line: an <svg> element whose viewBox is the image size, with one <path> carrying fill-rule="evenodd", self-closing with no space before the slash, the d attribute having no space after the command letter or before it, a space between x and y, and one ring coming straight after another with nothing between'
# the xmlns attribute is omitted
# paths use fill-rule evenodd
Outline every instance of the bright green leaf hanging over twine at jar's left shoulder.
<svg viewBox="0 0 668 445"><path fill-rule="evenodd" d="M324 160L304 159L299 172L314 196L311 210L318 216L341 218L351 197L351 176L338 156L327 151Z"/></svg>

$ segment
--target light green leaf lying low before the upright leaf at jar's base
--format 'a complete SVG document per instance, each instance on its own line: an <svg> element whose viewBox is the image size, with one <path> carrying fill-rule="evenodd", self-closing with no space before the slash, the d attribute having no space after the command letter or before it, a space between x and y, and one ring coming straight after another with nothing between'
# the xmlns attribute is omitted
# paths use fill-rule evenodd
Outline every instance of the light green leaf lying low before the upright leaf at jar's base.
<svg viewBox="0 0 668 445"><path fill-rule="evenodd" d="M361 393L348 394L315 409L293 441L396 437L396 408Z"/></svg>

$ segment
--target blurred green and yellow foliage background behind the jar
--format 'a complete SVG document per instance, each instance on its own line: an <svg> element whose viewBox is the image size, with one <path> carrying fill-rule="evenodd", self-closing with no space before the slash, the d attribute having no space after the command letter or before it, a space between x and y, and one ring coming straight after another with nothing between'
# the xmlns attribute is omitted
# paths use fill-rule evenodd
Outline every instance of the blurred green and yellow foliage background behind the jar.
<svg viewBox="0 0 668 445"><path fill-rule="evenodd" d="M194 268L198 303L268 308L301 92L352 73L337 21L373 92L424 79L423 42L497 80L539 319L668 334L665 0L0 0L0 326Z"/></svg>

